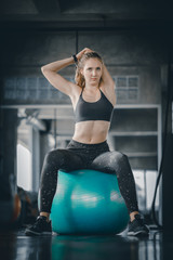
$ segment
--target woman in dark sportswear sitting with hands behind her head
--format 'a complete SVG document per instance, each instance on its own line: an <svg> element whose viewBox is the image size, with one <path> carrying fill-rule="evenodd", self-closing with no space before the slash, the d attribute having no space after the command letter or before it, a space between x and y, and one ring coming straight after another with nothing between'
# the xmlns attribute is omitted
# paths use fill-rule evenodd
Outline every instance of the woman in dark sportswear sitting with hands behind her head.
<svg viewBox="0 0 173 260"><path fill-rule="evenodd" d="M57 74L62 68L76 63L76 83ZM40 216L26 230L27 235L52 232L49 216L56 191L57 171L94 169L116 173L120 192L129 213L129 235L148 234L138 213L135 182L128 157L110 152L106 138L116 104L115 82L101 56L85 48L77 55L50 63L41 70L52 86L67 94L72 103L75 133L65 150L53 150L45 156L40 187Z"/></svg>

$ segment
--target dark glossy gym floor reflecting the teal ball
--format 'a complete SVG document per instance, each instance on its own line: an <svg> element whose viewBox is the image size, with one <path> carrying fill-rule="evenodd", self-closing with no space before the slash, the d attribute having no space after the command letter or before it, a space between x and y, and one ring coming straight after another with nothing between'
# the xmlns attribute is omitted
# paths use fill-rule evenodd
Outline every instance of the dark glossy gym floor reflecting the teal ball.
<svg viewBox="0 0 173 260"><path fill-rule="evenodd" d="M173 236L150 230L149 237L25 236L24 230L0 233L0 259L4 260L161 260L173 259Z"/></svg>

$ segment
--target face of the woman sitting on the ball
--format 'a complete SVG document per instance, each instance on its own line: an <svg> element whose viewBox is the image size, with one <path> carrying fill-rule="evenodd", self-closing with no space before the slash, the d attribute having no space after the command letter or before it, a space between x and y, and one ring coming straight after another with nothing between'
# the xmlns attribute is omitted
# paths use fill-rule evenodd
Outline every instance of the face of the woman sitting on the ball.
<svg viewBox="0 0 173 260"><path fill-rule="evenodd" d="M103 73L103 65L98 58L91 57L85 61L81 74L85 79L85 84L98 86Z"/></svg>

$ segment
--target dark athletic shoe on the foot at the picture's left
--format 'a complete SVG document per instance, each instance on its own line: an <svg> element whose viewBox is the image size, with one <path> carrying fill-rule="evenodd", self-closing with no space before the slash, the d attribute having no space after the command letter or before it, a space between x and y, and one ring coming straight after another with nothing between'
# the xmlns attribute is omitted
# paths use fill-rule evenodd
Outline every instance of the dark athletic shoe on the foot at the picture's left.
<svg viewBox="0 0 173 260"><path fill-rule="evenodd" d="M25 231L26 235L51 235L52 226L51 221L46 221L46 217L39 216L34 225L29 226Z"/></svg>

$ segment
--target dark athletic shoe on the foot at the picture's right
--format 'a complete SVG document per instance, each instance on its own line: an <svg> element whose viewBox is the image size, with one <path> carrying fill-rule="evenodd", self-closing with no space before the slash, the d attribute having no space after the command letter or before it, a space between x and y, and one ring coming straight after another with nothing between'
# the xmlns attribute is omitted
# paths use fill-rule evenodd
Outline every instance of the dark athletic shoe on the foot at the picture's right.
<svg viewBox="0 0 173 260"><path fill-rule="evenodd" d="M129 222L128 235L145 236L149 234L149 229L144 224L144 220L139 214L134 216L134 220Z"/></svg>

